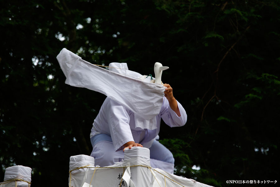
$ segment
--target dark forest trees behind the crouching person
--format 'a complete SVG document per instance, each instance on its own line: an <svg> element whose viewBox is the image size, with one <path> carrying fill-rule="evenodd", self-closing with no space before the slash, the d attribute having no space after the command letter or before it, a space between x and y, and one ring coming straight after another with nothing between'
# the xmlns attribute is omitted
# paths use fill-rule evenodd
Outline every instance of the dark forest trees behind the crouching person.
<svg viewBox="0 0 280 187"><path fill-rule="evenodd" d="M64 47L141 74L170 67L162 81L188 114L184 127L161 125L176 175L278 180L279 25L278 0L1 1L0 181L24 165L32 186L67 186L69 157L91 152L105 96L64 83Z"/></svg>

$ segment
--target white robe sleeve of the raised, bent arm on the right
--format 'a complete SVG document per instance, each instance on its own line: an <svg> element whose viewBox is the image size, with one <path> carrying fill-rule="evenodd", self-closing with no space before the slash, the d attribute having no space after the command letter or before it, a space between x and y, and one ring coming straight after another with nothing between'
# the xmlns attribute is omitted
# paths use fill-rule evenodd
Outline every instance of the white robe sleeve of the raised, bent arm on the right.
<svg viewBox="0 0 280 187"><path fill-rule="evenodd" d="M163 98L161 107L161 118L170 127L180 127L187 122L187 113L183 106L177 101L178 108L181 116L179 117L174 110L169 106L169 102L166 97Z"/></svg>

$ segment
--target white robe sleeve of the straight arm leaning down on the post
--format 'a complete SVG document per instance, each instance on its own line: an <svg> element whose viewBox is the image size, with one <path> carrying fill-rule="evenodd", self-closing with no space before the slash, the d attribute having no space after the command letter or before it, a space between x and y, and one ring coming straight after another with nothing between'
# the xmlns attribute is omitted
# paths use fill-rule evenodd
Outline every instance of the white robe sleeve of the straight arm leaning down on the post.
<svg viewBox="0 0 280 187"><path fill-rule="evenodd" d="M106 108L106 117L114 149L115 151L120 151L124 148L123 145L125 143L128 141L134 141L129 126L129 114L122 105L111 99Z"/></svg>

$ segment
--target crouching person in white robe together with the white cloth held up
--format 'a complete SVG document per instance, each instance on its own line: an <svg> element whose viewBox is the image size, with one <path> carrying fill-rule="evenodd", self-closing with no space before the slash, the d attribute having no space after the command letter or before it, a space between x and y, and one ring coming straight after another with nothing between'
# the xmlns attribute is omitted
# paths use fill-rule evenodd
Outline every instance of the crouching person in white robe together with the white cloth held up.
<svg viewBox="0 0 280 187"><path fill-rule="evenodd" d="M66 84L108 96L91 129L91 156L96 165L113 165L124 158L120 150L143 146L150 148L152 167L173 173L172 153L155 139L161 118L170 127L178 127L186 123L187 115L169 84L165 88L150 83L145 75L128 70L126 63L110 63L109 70L97 67L65 48L57 60Z"/></svg>

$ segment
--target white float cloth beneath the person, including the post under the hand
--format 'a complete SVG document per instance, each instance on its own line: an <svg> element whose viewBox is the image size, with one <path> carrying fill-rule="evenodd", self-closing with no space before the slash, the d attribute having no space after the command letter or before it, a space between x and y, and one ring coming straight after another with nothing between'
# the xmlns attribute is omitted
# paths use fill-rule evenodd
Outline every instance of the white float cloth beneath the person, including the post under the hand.
<svg viewBox="0 0 280 187"><path fill-rule="evenodd" d="M72 174L71 186L81 187L87 183L86 186L90 184L93 186L156 187L165 186L166 182L166 186L172 187L182 187L182 185L185 187L210 187L192 179L172 175L158 168L151 168L147 148L132 147L130 150L125 149L124 154L124 160L115 165L97 168L95 171L91 170L87 173Z"/></svg>

